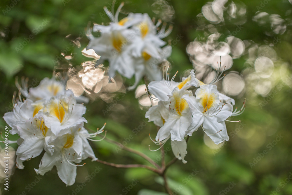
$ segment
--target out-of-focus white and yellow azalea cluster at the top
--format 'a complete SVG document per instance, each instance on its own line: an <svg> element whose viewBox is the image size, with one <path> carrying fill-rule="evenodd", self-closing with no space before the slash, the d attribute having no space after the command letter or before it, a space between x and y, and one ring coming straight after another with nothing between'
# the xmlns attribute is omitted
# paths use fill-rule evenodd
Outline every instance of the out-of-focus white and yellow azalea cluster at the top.
<svg viewBox="0 0 292 195"><path fill-rule="evenodd" d="M99 37L94 37L88 32L90 42L86 49L93 49L100 59L96 66L109 61L109 77L118 71L122 76L132 78L135 75L135 84L129 89L134 89L140 79L146 75L151 81L162 79L158 65L171 55L171 46L161 39L167 37L172 27L166 30L166 24L161 25L158 20L156 25L147 13L129 13L118 20L122 3L113 14L105 7L105 13L112 21L109 25L93 26L93 32L100 32Z"/></svg>

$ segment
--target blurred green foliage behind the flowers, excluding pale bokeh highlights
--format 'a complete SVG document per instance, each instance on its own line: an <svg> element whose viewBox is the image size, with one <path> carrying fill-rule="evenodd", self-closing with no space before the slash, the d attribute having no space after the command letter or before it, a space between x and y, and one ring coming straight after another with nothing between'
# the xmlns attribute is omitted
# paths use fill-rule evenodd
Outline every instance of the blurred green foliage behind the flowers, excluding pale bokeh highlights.
<svg viewBox="0 0 292 195"><path fill-rule="evenodd" d="M171 42L177 35L183 37L173 45L173 53L169 59L173 75L176 70L183 73L184 70L192 68L186 47L195 38L204 37L202 31L196 30L198 27L197 15L207 1L171 0L168 2L173 6L175 15L169 22L174 26L173 32L166 38L166 41ZM259 11L257 6L260 6L262 1L242 0L242 2L246 5L247 18L236 37L241 40L251 39L257 44L267 44L278 37L281 41L273 46L279 60L278 67L286 63L287 75L291 77L291 26L287 26L284 34L267 35L265 32L270 30L270 26L259 26L252 20L255 13ZM285 18L288 24L291 24L292 6L288 1L267 2L263 8L260 7L260 11L279 14ZM117 1L116 8L120 3L121 1ZM151 10L153 3L154 1L127 1L123 12L148 13L150 17L159 17ZM32 80L40 81L44 77L52 77L52 72L58 64L68 67L70 62L73 66L80 66L87 60L81 54L82 49L88 44L85 29L92 23L108 23L109 19L104 15L103 6L111 4L112 1L100 0L2 0L0 2L1 116L12 111L12 95L14 91L18 90L14 85L15 76L29 77L30 84ZM228 20L224 25L215 26L225 37L236 29L236 25ZM80 48L71 42L76 40L80 42ZM73 58L68 62L60 55L61 52L72 54ZM245 59L238 58L234 59L230 70L241 73L246 68ZM127 84L129 80L125 82ZM223 190L227 192L226 189L229 188L229 194L272 194L272 191L279 188L280 191L276 192L278 195L292 194L291 180L288 179L289 181L285 182L292 171L292 91L291 85L289 87L281 78L274 82L283 84L283 87L281 90L277 90L274 98L264 107L260 106L260 103L265 100L264 97L252 96L246 91L243 96L243 98L247 98L245 112L231 118L231 120L241 120L245 126L235 134L239 124L227 122L230 141L220 149L214 150L206 146L202 130L194 132L187 145L188 153L185 159L188 163L183 164L178 161L167 172L169 185L174 192L183 195L225 194ZM248 87L246 86L246 88ZM236 99L238 107L241 107L243 98ZM95 130L107 122L106 129L109 138L123 142L125 138L133 135L134 138L127 143L128 147L137 149L154 160L159 160L159 151L151 152L148 149L148 145L154 147L148 134L150 133L152 137L156 135L155 125L149 122L138 134L134 134L132 131L145 119L147 111L144 108L140 109L138 100L135 99L135 92L128 92L119 104L126 109L119 109L116 106L116 109L103 114L102 110L106 109L108 104L102 100L91 101L86 105L87 112L84 117L88 120L88 124L85 126ZM6 123L1 119L1 130L4 130L4 126ZM234 136L231 136L232 132ZM283 138L273 144L277 135L281 135ZM9 138L18 139L12 135ZM271 149L268 145L270 143L272 143ZM17 147L16 144L11 144L11 146L15 149ZM123 150L119 151L116 146L106 141L92 143L92 147L96 151L96 156L104 161L119 164L145 163L141 157ZM169 143L166 143L165 148L167 147L171 147ZM267 154L261 157L264 150L267 150ZM173 157L171 151L166 153L166 161L170 161ZM35 187L30 188L28 185L32 184L37 176L34 168L38 167L40 159L41 155L29 162L24 162L23 170L16 168L10 177L9 192L4 190L3 184L0 184L1 193L22 194L24 191L27 194L74 194L80 188L81 182L85 182L86 186L82 187L79 194L165 194L163 180L149 170L117 169L91 162L90 159L84 161L85 166L78 167L76 183L73 186L65 187L54 168L41 176L40 182ZM96 167L101 168L100 172L90 181L86 180L88 174L94 172ZM193 170L197 170L199 173L190 177ZM139 182L128 191L133 179L137 179ZM236 185L230 188L230 182L234 182ZM180 185L183 187L180 188Z"/></svg>

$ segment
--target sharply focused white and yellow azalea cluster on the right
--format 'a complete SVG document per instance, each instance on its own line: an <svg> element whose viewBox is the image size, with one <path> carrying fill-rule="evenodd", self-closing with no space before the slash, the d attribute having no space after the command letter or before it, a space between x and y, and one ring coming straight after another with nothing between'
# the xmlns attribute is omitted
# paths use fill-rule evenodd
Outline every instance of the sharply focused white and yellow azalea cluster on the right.
<svg viewBox="0 0 292 195"><path fill-rule="evenodd" d="M169 79L167 73L162 81L149 83L148 90L155 96L150 98L158 104L151 107L145 117L161 127L153 141L163 145L170 138L174 155L183 163L187 163L184 160L187 154L185 137L201 126L215 144L228 141L226 119L244 111L244 105L239 111L233 111L234 99L218 92L215 83L222 79L222 73L218 67L210 84L199 81L194 70L188 77L183 77L182 82L173 81L176 74ZM188 90L192 86L194 92Z"/></svg>

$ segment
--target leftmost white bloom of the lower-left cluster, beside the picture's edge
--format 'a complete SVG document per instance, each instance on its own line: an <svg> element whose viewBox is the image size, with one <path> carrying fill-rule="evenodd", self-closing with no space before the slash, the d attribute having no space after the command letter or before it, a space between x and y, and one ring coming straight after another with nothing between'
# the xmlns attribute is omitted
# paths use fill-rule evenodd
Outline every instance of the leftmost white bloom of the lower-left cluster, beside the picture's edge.
<svg viewBox="0 0 292 195"><path fill-rule="evenodd" d="M18 103L14 104L13 111L5 113L3 117L5 122L10 127L12 127L10 133L11 134L19 133L18 129L16 128L16 125L33 118L39 112L41 112L43 108L44 108L43 100L33 102L30 99L26 99L23 102L18 101Z"/></svg>

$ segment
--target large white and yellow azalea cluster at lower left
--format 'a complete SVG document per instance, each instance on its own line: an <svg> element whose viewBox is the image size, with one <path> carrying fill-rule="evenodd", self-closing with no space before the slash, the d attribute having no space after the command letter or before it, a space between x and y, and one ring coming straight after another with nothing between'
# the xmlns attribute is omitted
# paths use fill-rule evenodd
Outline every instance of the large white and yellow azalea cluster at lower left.
<svg viewBox="0 0 292 195"><path fill-rule="evenodd" d="M19 85L18 85L19 86ZM19 86L20 87L20 86ZM21 93L27 98L21 100ZM16 164L23 169L23 162L39 156L45 150L37 174L44 175L57 167L60 179L72 185L76 167L81 160L97 160L87 139L103 132L89 134L83 127L87 120L82 117L86 108L77 103L71 90L53 78L44 78L39 86L20 88L19 99L13 111L5 113L4 120L12 127L11 134L18 134ZM13 96L14 103L14 96Z"/></svg>

